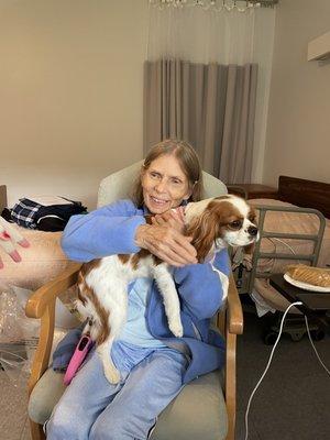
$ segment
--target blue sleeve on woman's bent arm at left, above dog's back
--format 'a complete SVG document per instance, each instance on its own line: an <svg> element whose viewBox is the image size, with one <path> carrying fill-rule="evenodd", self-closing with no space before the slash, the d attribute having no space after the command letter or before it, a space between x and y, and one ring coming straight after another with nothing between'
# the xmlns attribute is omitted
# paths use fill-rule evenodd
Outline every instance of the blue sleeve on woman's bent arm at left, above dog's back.
<svg viewBox="0 0 330 440"><path fill-rule="evenodd" d="M64 230L62 248L77 262L135 253L140 251L134 243L135 231L141 224L145 224L142 210L131 200L120 200L85 216L73 216Z"/></svg>

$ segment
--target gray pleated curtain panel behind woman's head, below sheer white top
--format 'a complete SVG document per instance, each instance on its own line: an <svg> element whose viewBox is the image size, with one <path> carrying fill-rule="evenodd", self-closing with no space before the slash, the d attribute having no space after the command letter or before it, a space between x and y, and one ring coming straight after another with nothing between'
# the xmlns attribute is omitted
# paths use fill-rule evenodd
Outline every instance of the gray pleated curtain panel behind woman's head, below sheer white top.
<svg viewBox="0 0 330 440"><path fill-rule="evenodd" d="M226 184L250 183L257 65L145 62L144 147L190 142L205 170Z"/></svg>

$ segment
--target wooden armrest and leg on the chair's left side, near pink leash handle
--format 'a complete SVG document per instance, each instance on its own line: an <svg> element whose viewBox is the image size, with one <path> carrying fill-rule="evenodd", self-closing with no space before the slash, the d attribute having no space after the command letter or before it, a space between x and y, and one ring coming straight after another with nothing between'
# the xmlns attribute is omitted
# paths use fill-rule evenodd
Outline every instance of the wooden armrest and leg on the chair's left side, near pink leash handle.
<svg viewBox="0 0 330 440"><path fill-rule="evenodd" d="M29 318L41 319L40 340L28 384L29 395L48 366L54 338L56 297L76 283L80 266L81 264L73 263L58 277L35 290L26 302L25 315Z"/></svg>

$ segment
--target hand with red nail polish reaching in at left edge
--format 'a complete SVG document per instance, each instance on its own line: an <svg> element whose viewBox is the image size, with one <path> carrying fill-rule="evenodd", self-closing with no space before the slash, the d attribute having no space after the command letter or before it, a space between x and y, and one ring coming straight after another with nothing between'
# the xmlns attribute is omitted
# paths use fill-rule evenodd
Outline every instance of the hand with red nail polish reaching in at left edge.
<svg viewBox="0 0 330 440"><path fill-rule="evenodd" d="M16 250L16 245L22 248L29 248L30 243L20 232L14 229L8 221L0 217L0 251L3 251L12 257L15 263L19 263L22 258ZM0 256L0 268L3 267L3 262Z"/></svg>

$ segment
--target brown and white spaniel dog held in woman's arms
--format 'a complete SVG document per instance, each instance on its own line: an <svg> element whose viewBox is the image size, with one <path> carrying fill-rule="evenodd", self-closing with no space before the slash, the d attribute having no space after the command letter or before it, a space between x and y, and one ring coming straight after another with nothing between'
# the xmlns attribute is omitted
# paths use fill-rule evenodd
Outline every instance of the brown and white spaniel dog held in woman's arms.
<svg viewBox="0 0 330 440"><path fill-rule="evenodd" d="M193 237L197 260L202 263L223 248L253 243L257 239L254 221L254 210L245 200L231 195L217 197L187 205L185 234ZM216 271L222 282L224 298L229 280ZM96 341L110 383L120 380L110 356L111 345L127 320L128 285L139 277L155 278L163 296L168 327L174 336L182 337L180 304L170 267L148 251L94 260L82 265L78 276L77 309L88 319L84 332L88 331Z"/></svg>

